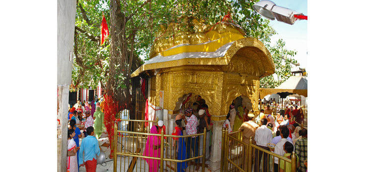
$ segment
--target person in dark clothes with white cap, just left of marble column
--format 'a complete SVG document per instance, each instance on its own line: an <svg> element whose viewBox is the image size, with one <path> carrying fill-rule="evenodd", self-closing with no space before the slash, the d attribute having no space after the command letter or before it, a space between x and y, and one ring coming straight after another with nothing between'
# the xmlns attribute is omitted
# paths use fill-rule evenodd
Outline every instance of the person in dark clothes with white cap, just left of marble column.
<svg viewBox="0 0 375 172"><path fill-rule="evenodd" d="M199 122L198 122L198 134L203 133L204 129L206 128L206 162L210 158L210 130L207 129L209 126L211 120L210 118L205 114L205 110L201 109L199 110ZM203 140L204 135L199 136L199 155L203 155ZM202 159L201 159L202 161Z"/></svg>

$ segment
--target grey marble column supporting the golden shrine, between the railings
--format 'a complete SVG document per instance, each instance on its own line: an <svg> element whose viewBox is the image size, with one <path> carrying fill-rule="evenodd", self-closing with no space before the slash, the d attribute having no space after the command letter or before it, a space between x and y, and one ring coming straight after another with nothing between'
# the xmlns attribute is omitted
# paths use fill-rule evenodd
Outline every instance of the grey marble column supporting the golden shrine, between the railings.
<svg viewBox="0 0 375 172"><path fill-rule="evenodd" d="M208 169L212 172L219 172L221 167L222 157L222 131L224 121L212 121L214 124L212 130L212 145L211 145L211 157ZM209 151L209 150L207 150ZM207 160L206 160L207 161Z"/></svg>

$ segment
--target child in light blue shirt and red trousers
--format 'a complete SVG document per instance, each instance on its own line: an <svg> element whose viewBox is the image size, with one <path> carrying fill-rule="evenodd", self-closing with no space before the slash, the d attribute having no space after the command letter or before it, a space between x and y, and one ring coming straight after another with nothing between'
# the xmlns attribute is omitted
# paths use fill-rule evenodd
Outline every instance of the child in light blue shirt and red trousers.
<svg viewBox="0 0 375 172"><path fill-rule="evenodd" d="M96 171L96 155L100 155L100 148L98 140L94 135L94 128L88 127L87 137L82 139L81 147L79 151L79 165L85 166L86 172L95 172ZM84 159L83 153L84 152ZM84 162L84 165L83 165Z"/></svg>

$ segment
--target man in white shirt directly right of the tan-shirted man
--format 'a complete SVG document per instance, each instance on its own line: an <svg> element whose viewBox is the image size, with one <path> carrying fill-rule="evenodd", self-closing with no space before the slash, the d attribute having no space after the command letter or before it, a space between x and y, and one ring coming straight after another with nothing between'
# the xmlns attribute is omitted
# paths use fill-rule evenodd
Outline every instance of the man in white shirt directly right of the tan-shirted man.
<svg viewBox="0 0 375 172"><path fill-rule="evenodd" d="M262 123L262 126L256 129L255 131L255 137L254 137L254 143L268 151L270 151L270 148L268 148L267 143L271 143L272 141L272 131L267 128L267 119L263 118L260 120ZM255 169L254 172L259 171L260 167L260 158L263 156L263 172L268 172L267 167L268 167L268 154L266 152L260 152L258 153L258 149L255 149ZM259 155L258 155L259 154Z"/></svg>

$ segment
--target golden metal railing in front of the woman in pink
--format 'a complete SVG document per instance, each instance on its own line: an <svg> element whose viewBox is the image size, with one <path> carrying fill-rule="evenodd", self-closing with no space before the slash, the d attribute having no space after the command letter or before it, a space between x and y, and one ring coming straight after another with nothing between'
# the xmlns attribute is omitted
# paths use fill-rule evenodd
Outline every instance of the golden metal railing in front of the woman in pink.
<svg viewBox="0 0 375 172"><path fill-rule="evenodd" d="M142 120L136 120L136 121L142 121ZM176 163L182 163L182 162L190 162L192 160L196 160L198 158L202 158L202 172L205 170L205 162L206 162L206 129L204 129L204 133L200 134L192 134L192 135L183 135L183 136L177 136L177 135L167 135L164 134L164 130L161 130L161 134L152 134L152 133L145 133L145 132L134 132L134 131L122 131L117 129L117 125L115 125L114 129L115 133L124 133L121 136L121 141L118 141L118 136L114 137L114 143L117 143L117 146L114 148L114 162L117 162L117 157L120 156L120 162L114 163L113 166L113 171L117 172L117 170L120 170L120 172L127 172L135 169L135 172L146 172L146 168L148 166L146 165L146 161L144 160L145 158L147 159L152 159L152 160L160 160L160 169L165 169L169 167L169 172L172 170L176 172L177 169L177 164ZM148 157L144 156L143 153L145 151L145 143L147 141L147 138L149 135L153 136L159 136L160 138L165 138L160 139L161 144L164 145L162 149L160 149L160 158L155 158L155 157ZM184 160L178 160L177 156L177 142L175 143L175 146L172 146L173 144L173 137L175 138L183 138L185 141L186 145L186 153L190 153L192 146L190 146L190 149L187 148L187 140L190 138L190 145L192 145L192 137L195 137L195 139L199 139L200 136L203 136L203 153L201 156L194 156L192 158L187 158L185 157ZM123 140L125 137L125 140ZM127 139L127 141L126 141ZM126 141L126 145L122 146L123 141ZM121 144L120 144L121 143ZM165 143L165 144L164 144ZM169 146L165 146L169 145ZM198 147L194 147L195 149L198 149L198 154L199 154L199 145ZM131 149L131 150L130 150ZM165 150L164 150L165 149ZM164 151L165 151L165 158L164 158ZM195 150L193 150L194 152ZM128 163L126 163L126 157L128 158ZM132 158L132 159L130 159ZM164 163L165 166L164 167ZM172 165L172 163L174 165ZM117 164L120 164L120 169L117 169ZM126 167L126 164L129 166ZM199 166L199 164L198 164ZM122 168L123 167L123 168ZM191 166L190 166L191 168ZM124 169L124 170L122 170ZM161 171L160 171L161 172Z"/></svg>

